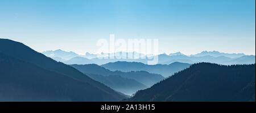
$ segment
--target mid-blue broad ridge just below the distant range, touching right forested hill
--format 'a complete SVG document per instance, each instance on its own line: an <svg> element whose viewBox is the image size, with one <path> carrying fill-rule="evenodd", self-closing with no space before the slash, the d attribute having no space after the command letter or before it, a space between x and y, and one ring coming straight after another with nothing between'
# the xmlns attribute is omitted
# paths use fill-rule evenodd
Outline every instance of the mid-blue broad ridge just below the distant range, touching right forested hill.
<svg viewBox="0 0 256 113"><path fill-rule="evenodd" d="M111 71L147 71L150 73L158 73L164 77L173 75L175 72L179 72L185 68L188 68L191 64L188 63L171 63L171 64L156 64L147 65L138 62L114 62L101 65Z"/></svg>

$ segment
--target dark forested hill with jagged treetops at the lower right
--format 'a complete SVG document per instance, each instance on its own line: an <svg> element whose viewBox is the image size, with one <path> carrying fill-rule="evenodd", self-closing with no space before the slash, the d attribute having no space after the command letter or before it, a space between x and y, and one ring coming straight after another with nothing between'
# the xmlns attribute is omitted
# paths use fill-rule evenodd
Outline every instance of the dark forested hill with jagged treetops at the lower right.
<svg viewBox="0 0 256 113"><path fill-rule="evenodd" d="M193 64L125 101L255 102L255 64Z"/></svg>

